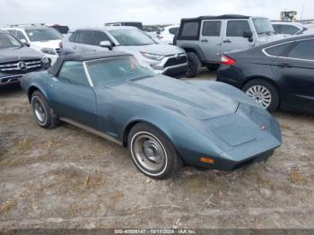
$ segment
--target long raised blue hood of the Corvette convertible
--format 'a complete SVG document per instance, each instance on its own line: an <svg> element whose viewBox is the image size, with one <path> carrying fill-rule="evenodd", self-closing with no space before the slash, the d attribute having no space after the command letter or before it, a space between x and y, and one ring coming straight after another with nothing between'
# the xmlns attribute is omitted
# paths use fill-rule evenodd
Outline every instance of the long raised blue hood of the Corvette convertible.
<svg viewBox="0 0 314 235"><path fill-rule="evenodd" d="M114 87L132 100L170 109L186 117L206 120L234 113L239 105L221 92L185 83L163 75L130 81Z"/></svg>

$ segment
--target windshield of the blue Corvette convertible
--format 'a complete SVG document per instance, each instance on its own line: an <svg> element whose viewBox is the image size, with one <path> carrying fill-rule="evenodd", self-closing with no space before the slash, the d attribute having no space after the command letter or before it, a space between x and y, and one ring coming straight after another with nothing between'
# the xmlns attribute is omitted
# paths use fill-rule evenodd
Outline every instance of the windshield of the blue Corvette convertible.
<svg viewBox="0 0 314 235"><path fill-rule="evenodd" d="M86 65L94 87L115 86L153 76L153 72L140 66L135 57L100 59L88 61Z"/></svg>

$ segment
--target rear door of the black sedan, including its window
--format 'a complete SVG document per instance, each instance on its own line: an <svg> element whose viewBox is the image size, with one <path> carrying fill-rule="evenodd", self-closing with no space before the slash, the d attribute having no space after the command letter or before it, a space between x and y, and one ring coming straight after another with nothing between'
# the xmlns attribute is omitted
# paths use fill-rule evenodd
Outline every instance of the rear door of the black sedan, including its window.
<svg viewBox="0 0 314 235"><path fill-rule="evenodd" d="M275 59L273 71L281 79L283 105L314 110L314 39L295 42Z"/></svg>

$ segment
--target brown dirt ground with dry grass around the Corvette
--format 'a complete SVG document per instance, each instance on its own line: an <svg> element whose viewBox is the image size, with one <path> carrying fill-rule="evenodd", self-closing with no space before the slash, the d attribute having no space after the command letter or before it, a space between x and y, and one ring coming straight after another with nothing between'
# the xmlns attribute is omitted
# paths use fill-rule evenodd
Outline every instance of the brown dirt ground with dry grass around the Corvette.
<svg viewBox="0 0 314 235"><path fill-rule="evenodd" d="M314 228L314 117L275 117L283 145L266 164L155 181L121 146L74 126L39 128L20 88L2 88L0 229Z"/></svg>

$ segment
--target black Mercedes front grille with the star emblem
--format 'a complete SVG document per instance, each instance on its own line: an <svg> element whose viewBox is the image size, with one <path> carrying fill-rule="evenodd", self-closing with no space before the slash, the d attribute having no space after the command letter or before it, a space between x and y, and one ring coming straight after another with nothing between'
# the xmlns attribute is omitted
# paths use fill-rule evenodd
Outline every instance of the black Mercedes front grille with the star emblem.
<svg viewBox="0 0 314 235"><path fill-rule="evenodd" d="M29 59L0 63L0 71L4 74L25 74L41 68L40 59Z"/></svg>

